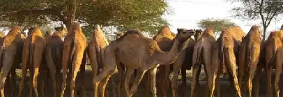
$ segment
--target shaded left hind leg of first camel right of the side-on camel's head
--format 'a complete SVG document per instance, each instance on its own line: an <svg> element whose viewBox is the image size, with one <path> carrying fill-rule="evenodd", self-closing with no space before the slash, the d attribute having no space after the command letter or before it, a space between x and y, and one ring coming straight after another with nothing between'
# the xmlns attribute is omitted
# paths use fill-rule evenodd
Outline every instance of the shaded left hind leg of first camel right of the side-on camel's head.
<svg viewBox="0 0 283 97"><path fill-rule="evenodd" d="M196 86L196 83L197 83L197 71L199 70L200 68L200 64L194 64L194 65L197 65L197 66L193 66L192 68L192 84L191 84L191 90L190 90L190 96L193 97L194 96L194 88Z"/></svg>

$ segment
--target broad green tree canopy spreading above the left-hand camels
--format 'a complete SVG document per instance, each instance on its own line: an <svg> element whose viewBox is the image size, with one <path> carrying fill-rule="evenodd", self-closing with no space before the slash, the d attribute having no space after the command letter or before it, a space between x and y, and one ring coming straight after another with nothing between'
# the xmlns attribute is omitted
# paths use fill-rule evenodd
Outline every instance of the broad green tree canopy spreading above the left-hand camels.
<svg viewBox="0 0 283 97"><path fill-rule="evenodd" d="M139 27L151 33L168 24L161 16L169 12L167 2L162 0L1 0L0 5L0 21L8 22L8 26L61 21L70 28L76 20L86 25L116 26L120 30Z"/></svg>

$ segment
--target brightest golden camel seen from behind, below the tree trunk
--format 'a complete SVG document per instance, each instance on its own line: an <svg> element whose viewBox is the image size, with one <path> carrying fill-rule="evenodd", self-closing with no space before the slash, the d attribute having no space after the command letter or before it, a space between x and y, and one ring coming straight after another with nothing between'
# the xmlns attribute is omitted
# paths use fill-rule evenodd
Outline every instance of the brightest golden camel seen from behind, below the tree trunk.
<svg viewBox="0 0 283 97"><path fill-rule="evenodd" d="M70 75L70 96L77 96L75 80L77 77L77 72L80 68L81 82L82 82L82 96L86 96L84 90L84 71L86 65L86 36L82 33L81 26L79 22L72 24L70 31L68 31L66 37L64 38L63 46L63 58L62 58L62 70L63 70L63 82L61 97L66 89L66 77L67 70L71 71Z"/></svg>

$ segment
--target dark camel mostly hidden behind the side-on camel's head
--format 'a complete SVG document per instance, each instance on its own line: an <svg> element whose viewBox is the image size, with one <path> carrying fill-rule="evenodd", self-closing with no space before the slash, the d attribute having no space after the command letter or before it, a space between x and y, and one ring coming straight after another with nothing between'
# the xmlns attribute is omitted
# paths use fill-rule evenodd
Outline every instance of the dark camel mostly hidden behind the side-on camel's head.
<svg viewBox="0 0 283 97"><path fill-rule="evenodd" d="M185 41L183 44L185 48L183 48L183 51L179 54L178 58L174 62L173 65L173 77L171 80L171 91L172 96L176 97L178 96L178 85L177 85L177 78L178 78L178 72L181 69L181 75L182 75L182 86L184 87L186 85L186 70L190 70L192 68L192 53L194 52L194 45L195 41L197 41L203 31L201 29L194 29L194 40L192 38L189 38ZM197 74L197 85L199 86L199 74L200 74L201 68L199 68L199 73ZM183 93L183 92L182 92Z"/></svg>

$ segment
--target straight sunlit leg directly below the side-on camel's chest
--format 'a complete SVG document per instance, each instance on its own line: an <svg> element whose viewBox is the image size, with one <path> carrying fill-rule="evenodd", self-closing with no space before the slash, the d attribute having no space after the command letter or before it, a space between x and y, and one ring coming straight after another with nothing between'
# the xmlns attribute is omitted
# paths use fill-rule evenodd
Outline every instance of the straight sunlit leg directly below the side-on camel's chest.
<svg viewBox="0 0 283 97"><path fill-rule="evenodd" d="M157 97L156 95L156 87L155 87L155 76L156 76L157 68L151 68L149 73L151 74L151 93L153 97Z"/></svg>

